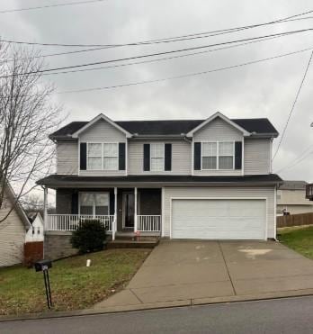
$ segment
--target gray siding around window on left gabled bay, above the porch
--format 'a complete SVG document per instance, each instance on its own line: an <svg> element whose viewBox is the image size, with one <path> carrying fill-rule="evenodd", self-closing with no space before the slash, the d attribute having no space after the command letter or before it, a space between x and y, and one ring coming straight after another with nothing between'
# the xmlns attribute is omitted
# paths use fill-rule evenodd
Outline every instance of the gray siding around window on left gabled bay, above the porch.
<svg viewBox="0 0 313 334"><path fill-rule="evenodd" d="M127 142L125 133L103 120L95 122L79 135L81 142ZM127 153L127 149L126 149ZM81 176L124 176L125 170L80 170Z"/></svg>

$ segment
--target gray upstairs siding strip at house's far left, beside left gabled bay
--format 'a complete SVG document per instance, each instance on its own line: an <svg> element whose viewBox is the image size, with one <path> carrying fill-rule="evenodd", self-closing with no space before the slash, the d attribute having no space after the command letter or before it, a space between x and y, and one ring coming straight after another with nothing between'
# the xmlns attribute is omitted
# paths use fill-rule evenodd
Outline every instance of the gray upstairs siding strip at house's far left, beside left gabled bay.
<svg viewBox="0 0 313 334"><path fill-rule="evenodd" d="M57 143L57 173L78 173L78 144L76 141L58 141Z"/></svg>

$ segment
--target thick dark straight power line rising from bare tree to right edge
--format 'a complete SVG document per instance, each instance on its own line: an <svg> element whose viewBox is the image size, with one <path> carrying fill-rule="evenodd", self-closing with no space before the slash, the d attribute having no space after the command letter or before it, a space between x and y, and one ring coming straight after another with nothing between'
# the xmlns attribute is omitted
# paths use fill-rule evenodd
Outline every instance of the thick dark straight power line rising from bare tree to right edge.
<svg viewBox="0 0 313 334"><path fill-rule="evenodd" d="M201 45L201 46L198 46L198 47L184 48L184 49L180 49L180 50L170 50L170 51L149 53L149 54L144 54L144 55L139 55L139 56L134 56L134 57L121 58L121 59L109 59L109 60L96 61L96 62L92 62L92 63L72 65L72 66L66 66L66 67L60 67L60 68L45 68L45 69L40 69L38 71L15 73L13 75L2 76L0 78L5 78L5 77L20 77L20 76L26 76L26 75L31 75L31 74L46 73L46 72L58 71L58 70L64 70L64 69L70 69L70 68L85 68L85 67L89 67L89 66L108 64L108 63L114 63L114 62L131 60L131 59L143 59L143 58L154 57L154 56L162 56L162 55L172 54L172 53L176 53L176 52L183 52L183 51L189 51L189 50L201 50L201 49L206 49L206 48L215 47L215 46L219 46L219 45L234 44L234 43L241 42L241 41L255 41L255 40L260 40L260 39L274 37L274 36L282 36L282 35L285 35L285 34L293 34L293 33L300 33L300 32L309 32L309 31L312 31L312 30L313 30L312 28L309 28L309 29L303 29L303 30L300 30L300 31L293 31L293 32L280 32L280 33L274 33L274 34L271 34L271 35L252 37L252 38L242 39L242 40L236 40L236 41L224 41L224 42L221 42L221 43L214 43L214 44L209 44L209 45Z"/></svg>

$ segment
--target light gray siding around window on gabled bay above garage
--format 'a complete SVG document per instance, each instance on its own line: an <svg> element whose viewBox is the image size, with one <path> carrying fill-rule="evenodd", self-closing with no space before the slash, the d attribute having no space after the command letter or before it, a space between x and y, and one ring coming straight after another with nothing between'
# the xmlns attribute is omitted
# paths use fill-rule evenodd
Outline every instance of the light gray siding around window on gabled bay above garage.
<svg viewBox="0 0 313 334"><path fill-rule="evenodd" d="M228 124L220 118L216 118L212 122L205 125L193 136L193 142L197 141L241 141L243 139L242 132L238 131L232 125ZM221 176L240 176L241 169L233 170L194 170L194 175L221 175Z"/></svg>

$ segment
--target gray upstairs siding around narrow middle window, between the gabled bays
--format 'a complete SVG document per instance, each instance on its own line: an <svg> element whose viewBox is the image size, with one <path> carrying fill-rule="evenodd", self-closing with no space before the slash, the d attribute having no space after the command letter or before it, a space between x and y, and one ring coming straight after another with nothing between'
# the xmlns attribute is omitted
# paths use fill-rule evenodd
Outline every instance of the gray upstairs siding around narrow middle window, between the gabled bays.
<svg viewBox="0 0 313 334"><path fill-rule="evenodd" d="M172 170L153 172L143 170L143 146L152 143L153 140L130 140L128 154L129 175L191 175L192 145L183 140L166 140L164 143L172 144ZM160 142L155 141L155 142Z"/></svg>

